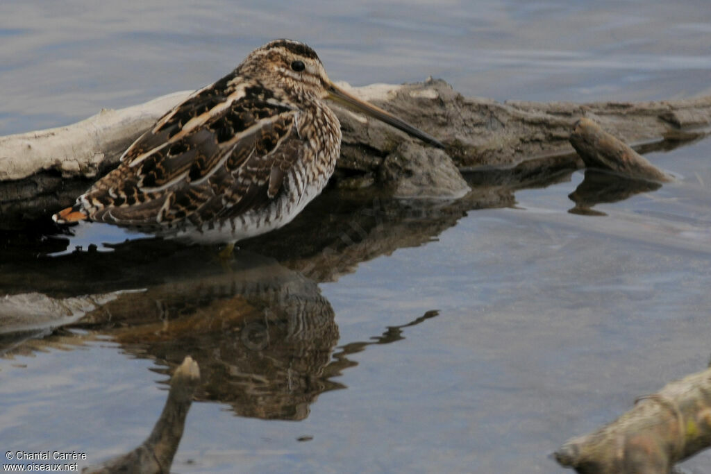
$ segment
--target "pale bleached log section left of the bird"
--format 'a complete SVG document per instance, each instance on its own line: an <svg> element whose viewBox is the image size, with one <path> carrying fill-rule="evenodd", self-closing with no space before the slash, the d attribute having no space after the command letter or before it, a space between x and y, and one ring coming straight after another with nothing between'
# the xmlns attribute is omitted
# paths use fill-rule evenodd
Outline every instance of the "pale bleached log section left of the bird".
<svg viewBox="0 0 711 474"><path fill-rule="evenodd" d="M69 126L0 137L0 229L16 229L71 205L123 151L190 92Z"/></svg>

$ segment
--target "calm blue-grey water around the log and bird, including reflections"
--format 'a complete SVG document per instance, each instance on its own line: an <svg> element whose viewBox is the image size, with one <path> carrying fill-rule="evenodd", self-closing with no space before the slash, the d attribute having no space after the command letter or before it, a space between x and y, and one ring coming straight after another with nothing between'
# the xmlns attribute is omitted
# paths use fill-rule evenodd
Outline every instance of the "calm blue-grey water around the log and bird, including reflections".
<svg viewBox="0 0 711 474"><path fill-rule="evenodd" d="M705 0L192 3L0 4L0 135L201 87L274 37L354 85L711 93ZM151 240L109 251L135 236L100 225L14 236L2 311L86 319L2 336L0 448L129 451L191 354L203 383L176 472L565 472L547 455L567 438L707 365L710 155L711 140L649 154L680 181L599 217L567 212L582 172L486 209L481 190L439 205L331 190L227 263Z"/></svg>

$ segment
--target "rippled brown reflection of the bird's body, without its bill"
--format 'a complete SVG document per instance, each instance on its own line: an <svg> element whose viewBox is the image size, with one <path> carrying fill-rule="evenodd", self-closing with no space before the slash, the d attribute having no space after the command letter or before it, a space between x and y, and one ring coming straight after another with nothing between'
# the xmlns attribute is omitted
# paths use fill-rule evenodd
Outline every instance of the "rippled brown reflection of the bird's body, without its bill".
<svg viewBox="0 0 711 474"><path fill-rule="evenodd" d="M304 419L321 392L338 387L324 376L338 342L331 304L314 281L249 252L229 272L217 266L121 295L80 327L171 367L191 355L202 375L196 399L241 416Z"/></svg>

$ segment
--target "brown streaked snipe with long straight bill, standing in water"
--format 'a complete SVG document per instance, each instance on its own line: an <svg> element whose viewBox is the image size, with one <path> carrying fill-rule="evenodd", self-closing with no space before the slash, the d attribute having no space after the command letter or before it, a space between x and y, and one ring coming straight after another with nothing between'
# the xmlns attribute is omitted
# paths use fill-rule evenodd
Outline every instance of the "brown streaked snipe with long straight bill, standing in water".
<svg viewBox="0 0 711 474"><path fill-rule="evenodd" d="M161 117L118 168L53 219L203 242L281 227L321 193L336 166L341 129L324 99L442 147L333 85L309 46L276 40Z"/></svg>

